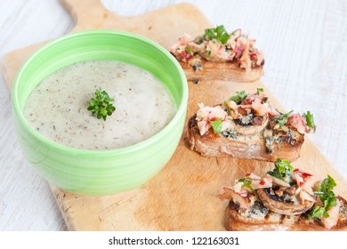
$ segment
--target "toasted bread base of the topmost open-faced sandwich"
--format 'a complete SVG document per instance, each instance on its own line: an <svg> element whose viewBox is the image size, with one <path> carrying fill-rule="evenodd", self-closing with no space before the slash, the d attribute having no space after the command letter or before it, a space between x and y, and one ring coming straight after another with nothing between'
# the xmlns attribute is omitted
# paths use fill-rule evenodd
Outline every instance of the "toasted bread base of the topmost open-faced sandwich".
<svg viewBox="0 0 347 249"><path fill-rule="evenodd" d="M221 80L252 83L259 80L264 73L263 66L246 71L245 68L239 68L238 65L235 65L233 62L200 60L199 64L201 68L196 68L194 65L190 65L190 63L185 61L179 62L189 81Z"/></svg>

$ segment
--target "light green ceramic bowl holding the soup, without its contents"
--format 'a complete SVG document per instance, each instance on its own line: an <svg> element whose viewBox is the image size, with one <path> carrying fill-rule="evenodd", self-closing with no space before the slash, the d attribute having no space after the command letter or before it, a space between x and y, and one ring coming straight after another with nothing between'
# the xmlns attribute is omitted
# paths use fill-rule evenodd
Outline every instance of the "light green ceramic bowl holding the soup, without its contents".
<svg viewBox="0 0 347 249"><path fill-rule="evenodd" d="M123 61L157 76L176 104L172 121L148 140L121 149L73 149L46 139L23 116L26 100L44 77L83 60ZM52 185L85 195L137 189L158 173L181 139L187 101L187 79L173 56L147 38L116 30L72 33L44 45L22 65L12 86L14 125L25 157Z"/></svg>

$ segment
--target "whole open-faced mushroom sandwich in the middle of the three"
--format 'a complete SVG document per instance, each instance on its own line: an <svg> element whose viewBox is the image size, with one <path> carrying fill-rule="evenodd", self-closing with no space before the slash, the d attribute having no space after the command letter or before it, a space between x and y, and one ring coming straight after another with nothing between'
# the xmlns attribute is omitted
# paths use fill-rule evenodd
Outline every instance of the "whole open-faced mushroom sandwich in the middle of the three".
<svg viewBox="0 0 347 249"><path fill-rule="evenodd" d="M274 162L300 156L304 133L316 129L310 111L280 113L261 88L237 92L221 105L199 104L188 121L187 146L206 157L237 157Z"/></svg>

